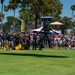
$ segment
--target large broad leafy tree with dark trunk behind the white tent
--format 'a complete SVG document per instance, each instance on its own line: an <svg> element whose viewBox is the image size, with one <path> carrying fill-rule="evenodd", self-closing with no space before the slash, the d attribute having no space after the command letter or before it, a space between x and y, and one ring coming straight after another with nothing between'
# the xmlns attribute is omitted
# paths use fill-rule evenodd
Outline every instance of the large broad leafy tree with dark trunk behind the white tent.
<svg viewBox="0 0 75 75"><path fill-rule="evenodd" d="M42 16L51 15L57 18L61 14L62 6L60 0L33 0L30 7L35 15L35 28L37 28L38 19Z"/></svg>

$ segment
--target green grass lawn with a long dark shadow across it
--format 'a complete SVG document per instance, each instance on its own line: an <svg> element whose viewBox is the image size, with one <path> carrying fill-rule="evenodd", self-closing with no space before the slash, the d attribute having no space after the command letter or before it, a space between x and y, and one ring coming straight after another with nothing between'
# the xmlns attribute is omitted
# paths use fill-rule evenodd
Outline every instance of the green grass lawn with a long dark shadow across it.
<svg viewBox="0 0 75 75"><path fill-rule="evenodd" d="M0 50L0 75L75 75L75 50Z"/></svg>

